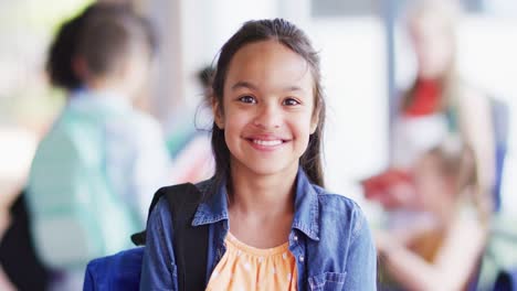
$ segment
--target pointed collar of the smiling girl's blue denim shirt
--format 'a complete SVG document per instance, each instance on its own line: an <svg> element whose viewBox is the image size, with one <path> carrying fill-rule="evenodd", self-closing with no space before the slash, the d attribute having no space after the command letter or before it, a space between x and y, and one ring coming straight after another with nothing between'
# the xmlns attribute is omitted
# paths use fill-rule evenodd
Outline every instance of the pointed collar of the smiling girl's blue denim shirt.
<svg viewBox="0 0 517 291"><path fill-rule="evenodd" d="M192 219L192 226L214 224L229 218L226 181L222 181L217 187L212 187L213 181L207 181L199 185L203 196L202 202ZM215 193L210 193L215 188ZM316 186L310 184L307 175L298 169L295 192L295 215L292 228L296 228L314 240L319 240L319 203Z"/></svg>

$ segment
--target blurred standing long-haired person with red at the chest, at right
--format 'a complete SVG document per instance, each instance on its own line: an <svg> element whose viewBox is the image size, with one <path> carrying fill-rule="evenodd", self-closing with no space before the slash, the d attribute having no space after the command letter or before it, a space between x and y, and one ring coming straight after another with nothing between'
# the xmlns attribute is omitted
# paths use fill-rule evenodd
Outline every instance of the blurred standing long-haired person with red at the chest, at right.
<svg viewBox="0 0 517 291"><path fill-rule="evenodd" d="M456 71L457 12L453 2L440 0L420 0L409 9L407 25L416 56L416 76L401 96L392 125L390 169L368 180L400 191L366 190L367 196L380 197L376 193L384 193L386 205L412 208L413 198L403 190L408 169L451 133L460 134L472 148L481 191L494 191L496 148L490 99L464 82ZM402 215L405 219L407 214L392 216Z"/></svg>

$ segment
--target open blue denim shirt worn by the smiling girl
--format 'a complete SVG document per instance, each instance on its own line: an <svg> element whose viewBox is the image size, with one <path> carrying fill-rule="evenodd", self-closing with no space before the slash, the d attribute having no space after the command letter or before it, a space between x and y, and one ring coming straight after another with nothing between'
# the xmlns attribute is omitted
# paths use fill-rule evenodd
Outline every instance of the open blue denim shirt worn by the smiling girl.
<svg viewBox="0 0 517 291"><path fill-rule="evenodd" d="M197 186L207 193L207 183ZM207 279L225 252L229 230L226 187L198 206L192 226L209 225ZM147 225L140 290L178 290L173 229L162 198ZM298 290L376 290L377 254L359 206L341 195L310 184L298 170L295 214L288 237L296 258Z"/></svg>

